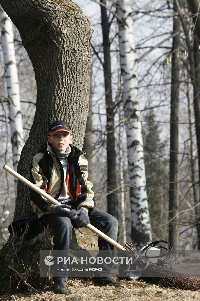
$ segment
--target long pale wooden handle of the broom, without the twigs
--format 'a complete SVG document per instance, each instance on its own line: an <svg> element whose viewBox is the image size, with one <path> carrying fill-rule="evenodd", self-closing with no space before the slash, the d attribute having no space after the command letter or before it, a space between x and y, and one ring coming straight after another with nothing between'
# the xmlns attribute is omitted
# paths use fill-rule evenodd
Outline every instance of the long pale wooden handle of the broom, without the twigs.
<svg viewBox="0 0 200 301"><path fill-rule="evenodd" d="M24 183L25 185L27 185L28 187L30 187L31 189L33 189L34 191L36 191L38 194L42 195L45 199L47 199L52 204L54 204L54 205L61 205L60 202L58 202L53 197L51 197L49 194L47 194L43 189L38 188L36 185L34 185L30 181L28 181L26 178L24 178L18 172L14 171L9 166L4 165L3 169L6 170L7 172L9 172L11 175L13 175L19 181L21 181L22 183ZM70 209L67 209L67 210L70 210ZM92 232L96 233L97 235L99 235L101 238L103 238L104 240L106 240L108 243L112 244L112 246L116 247L118 250L125 251L124 247L122 247L121 244L118 244L115 240L113 240L112 238L110 238L109 236L107 236L106 234L104 234L103 232L101 232L100 230L98 230L97 228L95 228L94 226L92 226L91 224L88 224L85 227L88 228L88 229L90 229Z"/></svg>

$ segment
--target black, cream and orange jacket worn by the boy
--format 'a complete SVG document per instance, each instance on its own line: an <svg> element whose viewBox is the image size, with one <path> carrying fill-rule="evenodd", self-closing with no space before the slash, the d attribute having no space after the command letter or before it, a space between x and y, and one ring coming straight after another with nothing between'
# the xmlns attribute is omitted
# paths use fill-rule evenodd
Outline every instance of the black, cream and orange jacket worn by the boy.
<svg viewBox="0 0 200 301"><path fill-rule="evenodd" d="M69 144L71 152L68 157L66 184L68 194L76 203L77 209L87 207L91 215L95 208L93 185L88 178L88 161L78 147ZM33 157L30 166L29 180L37 187L44 189L55 200L61 194L64 182L63 167L58 157L52 152L51 144L47 142ZM49 201L31 189L32 209L38 217L48 214L46 209Z"/></svg>

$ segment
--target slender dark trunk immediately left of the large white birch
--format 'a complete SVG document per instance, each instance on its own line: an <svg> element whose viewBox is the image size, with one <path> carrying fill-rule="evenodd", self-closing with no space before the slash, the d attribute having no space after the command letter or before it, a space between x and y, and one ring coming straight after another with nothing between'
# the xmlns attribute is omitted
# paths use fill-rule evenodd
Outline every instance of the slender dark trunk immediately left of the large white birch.
<svg viewBox="0 0 200 301"><path fill-rule="evenodd" d="M106 0L100 0L101 3L106 4ZM101 26L103 34L103 54L104 54L104 85L106 97L106 132L107 132L107 212L117 217L117 201L116 193L112 192L116 188L115 175L115 127L114 127L114 104L112 101L112 83L111 83L111 64L110 64L110 41L109 41L109 22L107 10L103 5L101 7Z"/></svg>

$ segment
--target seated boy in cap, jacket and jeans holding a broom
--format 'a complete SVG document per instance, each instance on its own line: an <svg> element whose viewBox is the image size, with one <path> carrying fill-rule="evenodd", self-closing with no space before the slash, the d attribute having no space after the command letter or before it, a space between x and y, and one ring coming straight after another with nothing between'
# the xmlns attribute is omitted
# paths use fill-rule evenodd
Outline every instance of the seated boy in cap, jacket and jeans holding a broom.
<svg viewBox="0 0 200 301"><path fill-rule="evenodd" d="M53 228L53 249L67 252L73 227L82 228L91 223L115 241L118 231L115 217L95 209L92 183L87 180L88 162L84 153L72 144L72 139L69 123L62 120L53 122L49 127L48 142L33 157L30 168L30 181L61 203L53 205L31 190L32 209ZM79 218L76 219L75 215ZM115 249L101 237L98 237L98 246L100 250L110 251L111 256ZM94 281L103 285L120 285L110 277L110 270L111 266L107 266L106 274ZM67 274L53 277L53 281L55 293L67 292Z"/></svg>

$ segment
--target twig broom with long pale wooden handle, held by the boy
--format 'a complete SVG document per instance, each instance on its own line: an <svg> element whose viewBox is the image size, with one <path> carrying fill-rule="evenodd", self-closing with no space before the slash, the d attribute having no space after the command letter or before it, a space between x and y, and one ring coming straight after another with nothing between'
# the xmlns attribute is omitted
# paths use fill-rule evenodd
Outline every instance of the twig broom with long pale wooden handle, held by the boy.
<svg viewBox="0 0 200 301"><path fill-rule="evenodd" d="M9 166L4 165L4 170L9 172L11 175L16 177L18 180L23 182L25 185L36 191L38 194L45 197L49 202L55 205L61 205L60 202L55 200L53 197L48 195L43 189L38 188L33 183L28 181L26 178L24 178L22 175L11 169ZM66 209L70 210L70 209ZM118 250L126 251L129 256L133 258L133 263L137 266L139 266L141 269L146 270L148 272L148 278L153 278L153 281L155 284L160 284L164 287L173 287L178 289L184 289L184 290L199 290L200 289L200 279L197 277L182 277L182 275L175 270L166 268L166 267L159 267L155 263L152 263L148 261L145 257L139 256L135 248L133 247L133 244L124 244L123 246L118 244L115 240L111 239L109 236L92 226L91 224L88 224L85 226L86 228L90 229L92 232L96 233L98 236L102 237L104 240L112 244L114 247L116 247ZM166 275L163 277L163 274ZM156 275L156 277L155 277ZM148 278L145 278L146 281L148 281Z"/></svg>

